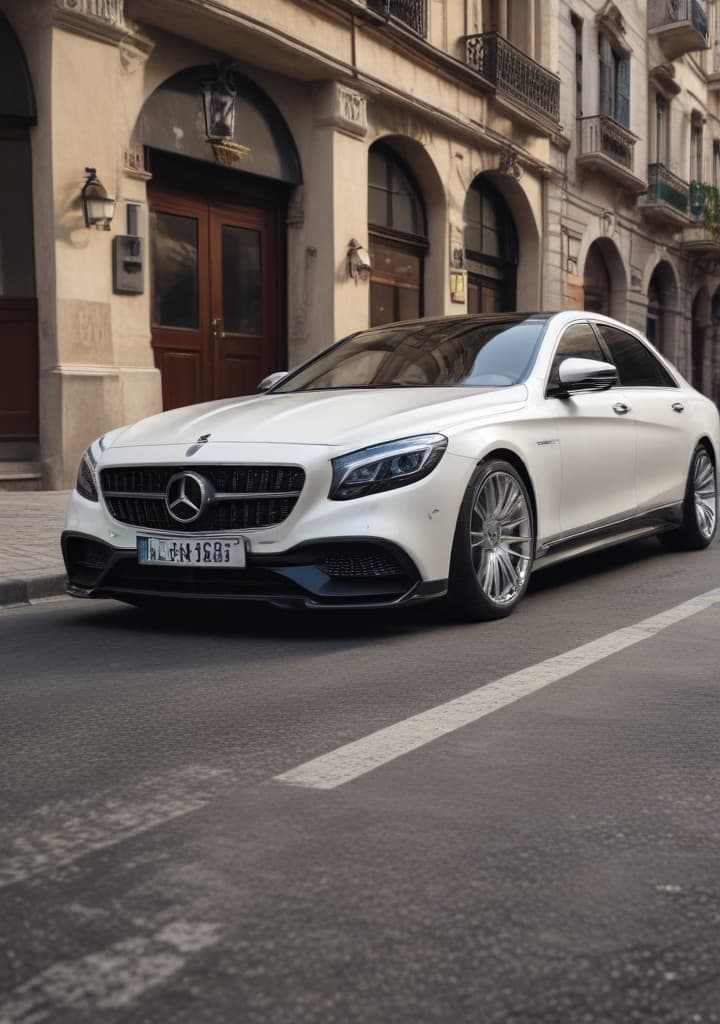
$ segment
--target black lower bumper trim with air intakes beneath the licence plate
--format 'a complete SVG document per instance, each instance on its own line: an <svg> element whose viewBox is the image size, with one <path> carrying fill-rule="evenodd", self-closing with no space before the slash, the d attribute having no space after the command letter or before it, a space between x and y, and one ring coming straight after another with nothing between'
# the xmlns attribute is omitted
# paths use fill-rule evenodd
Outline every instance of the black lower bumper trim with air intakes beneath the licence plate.
<svg viewBox="0 0 720 1024"><path fill-rule="evenodd" d="M389 607L441 597L447 580L423 581L395 545L367 538L316 541L282 555L248 554L246 568L142 565L134 550L66 530L73 597L261 601L278 607Z"/></svg>

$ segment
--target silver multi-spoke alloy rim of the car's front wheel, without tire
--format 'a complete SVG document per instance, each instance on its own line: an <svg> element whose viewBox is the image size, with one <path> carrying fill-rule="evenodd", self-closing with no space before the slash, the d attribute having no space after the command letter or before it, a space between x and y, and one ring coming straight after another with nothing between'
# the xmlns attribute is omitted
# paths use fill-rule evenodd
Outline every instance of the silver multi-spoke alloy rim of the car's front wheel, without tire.
<svg viewBox="0 0 720 1024"><path fill-rule="evenodd" d="M470 514L472 563L485 597L511 604L522 592L533 559L527 500L509 473L490 473L480 481Z"/></svg>

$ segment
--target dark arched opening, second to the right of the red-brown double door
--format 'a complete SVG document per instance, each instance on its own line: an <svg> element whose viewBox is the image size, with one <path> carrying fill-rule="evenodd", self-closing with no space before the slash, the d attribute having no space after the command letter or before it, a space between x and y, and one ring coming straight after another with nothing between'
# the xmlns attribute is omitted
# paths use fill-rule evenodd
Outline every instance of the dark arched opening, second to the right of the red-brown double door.
<svg viewBox="0 0 720 1024"><path fill-rule="evenodd" d="M467 311L511 312L517 298L517 230L507 203L482 175L468 189L463 217Z"/></svg>

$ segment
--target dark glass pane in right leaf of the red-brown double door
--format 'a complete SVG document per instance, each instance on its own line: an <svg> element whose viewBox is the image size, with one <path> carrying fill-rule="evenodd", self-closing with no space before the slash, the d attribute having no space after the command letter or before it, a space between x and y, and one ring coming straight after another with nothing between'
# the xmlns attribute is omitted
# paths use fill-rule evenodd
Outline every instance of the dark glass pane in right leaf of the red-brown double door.
<svg viewBox="0 0 720 1024"><path fill-rule="evenodd" d="M222 321L230 334L262 334L260 232L222 225Z"/></svg>

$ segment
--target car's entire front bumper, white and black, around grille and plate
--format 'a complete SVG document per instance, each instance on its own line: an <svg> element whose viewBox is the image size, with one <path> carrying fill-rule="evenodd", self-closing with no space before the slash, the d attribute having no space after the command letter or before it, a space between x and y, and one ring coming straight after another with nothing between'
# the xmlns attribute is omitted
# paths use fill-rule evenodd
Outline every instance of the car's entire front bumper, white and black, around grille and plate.
<svg viewBox="0 0 720 1024"><path fill-rule="evenodd" d="M308 607L396 605L439 597L447 590L458 509L473 460L447 453L429 476L414 484L338 502L328 499L331 454L320 445L293 445L282 454L277 445L206 445L206 464L271 464L282 459L306 473L297 504L283 522L219 531L245 538L244 569L139 565L137 537L164 530L120 522L102 494L99 501L90 502L73 492L62 537L69 593ZM193 468L184 446L167 446L110 449L98 469L168 464Z"/></svg>

